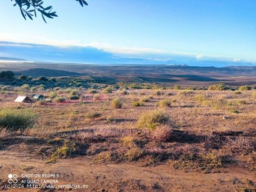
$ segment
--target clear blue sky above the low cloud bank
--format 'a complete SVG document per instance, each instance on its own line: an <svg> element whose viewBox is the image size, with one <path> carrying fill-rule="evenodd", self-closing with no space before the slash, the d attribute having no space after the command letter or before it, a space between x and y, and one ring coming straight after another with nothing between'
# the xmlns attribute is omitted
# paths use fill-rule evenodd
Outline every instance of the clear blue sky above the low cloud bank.
<svg viewBox="0 0 256 192"><path fill-rule="evenodd" d="M75 0L44 0L59 15L45 24L39 14L33 21L24 20L11 0L0 0L0 41L58 46L66 51L91 46L104 55L149 62L256 62L255 0L87 2L89 6L81 7ZM6 50L7 45L0 43L0 56L16 56Z"/></svg>

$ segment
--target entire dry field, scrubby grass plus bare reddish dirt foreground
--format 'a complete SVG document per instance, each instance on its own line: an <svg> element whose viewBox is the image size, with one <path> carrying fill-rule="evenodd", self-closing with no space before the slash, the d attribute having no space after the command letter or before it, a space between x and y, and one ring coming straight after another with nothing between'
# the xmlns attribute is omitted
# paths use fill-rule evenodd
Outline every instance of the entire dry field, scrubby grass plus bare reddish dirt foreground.
<svg viewBox="0 0 256 192"><path fill-rule="evenodd" d="M2 113L33 119L1 129L3 190L15 191L4 187L9 173L58 173L59 184L88 185L81 192L256 191L255 90L93 92L26 104L13 102L17 92L0 93Z"/></svg>

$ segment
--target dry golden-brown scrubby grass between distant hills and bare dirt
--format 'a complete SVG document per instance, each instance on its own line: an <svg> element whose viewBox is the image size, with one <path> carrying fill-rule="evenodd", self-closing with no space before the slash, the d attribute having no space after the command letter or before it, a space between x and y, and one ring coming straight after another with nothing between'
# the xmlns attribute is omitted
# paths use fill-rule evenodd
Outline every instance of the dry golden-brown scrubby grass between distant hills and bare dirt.
<svg viewBox="0 0 256 192"><path fill-rule="evenodd" d="M103 89L97 91L101 93ZM155 90L129 89L129 94L125 94L115 91L114 87L111 89L112 93L107 94L78 90L79 101L68 99L72 90L59 89L56 90L58 96L67 101L44 106L18 106L11 102L15 99L14 91L8 91L10 93L0 96L0 107L28 109L38 114L33 128L17 133L46 140L47 147L53 148L53 152L47 154L48 162L76 155L90 156L95 164L138 161L142 166L156 166L170 160L177 169L207 171L223 166L222 155L239 161L255 154L253 91L234 94L231 90L185 90L184 93L161 90L164 94L150 97L155 95ZM49 93L49 90L41 92ZM121 108L111 105L117 95L116 101L122 101ZM161 102L164 108L158 109L156 106ZM231 113L231 110L239 113ZM0 131L2 140L15 137L5 128ZM64 144L65 140L73 142L74 147ZM38 143L32 144L40 148ZM27 145L27 153L31 148L24 140L13 145L19 150ZM88 149L84 147L81 153L80 145ZM255 160L243 162L250 168L255 167L254 164Z"/></svg>

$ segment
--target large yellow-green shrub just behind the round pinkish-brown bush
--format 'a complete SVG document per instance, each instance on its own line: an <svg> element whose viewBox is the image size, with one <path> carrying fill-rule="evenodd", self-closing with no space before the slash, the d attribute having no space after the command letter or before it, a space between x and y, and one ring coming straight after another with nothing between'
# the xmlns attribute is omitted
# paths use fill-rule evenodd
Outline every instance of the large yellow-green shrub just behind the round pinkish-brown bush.
<svg viewBox="0 0 256 192"><path fill-rule="evenodd" d="M138 128L154 129L155 126L169 123L169 116L162 110L151 110L140 115L137 126Z"/></svg>

